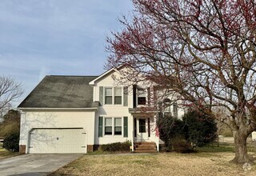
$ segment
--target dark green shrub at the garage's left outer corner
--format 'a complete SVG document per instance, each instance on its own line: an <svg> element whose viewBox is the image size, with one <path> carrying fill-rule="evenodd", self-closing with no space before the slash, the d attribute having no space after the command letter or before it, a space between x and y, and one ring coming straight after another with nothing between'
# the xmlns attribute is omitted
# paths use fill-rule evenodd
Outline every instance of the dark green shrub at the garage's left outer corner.
<svg viewBox="0 0 256 176"><path fill-rule="evenodd" d="M18 152L19 132L13 132L6 135L3 142L3 148L9 151Z"/></svg>

